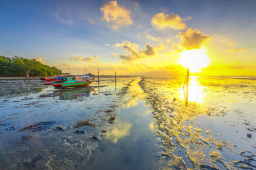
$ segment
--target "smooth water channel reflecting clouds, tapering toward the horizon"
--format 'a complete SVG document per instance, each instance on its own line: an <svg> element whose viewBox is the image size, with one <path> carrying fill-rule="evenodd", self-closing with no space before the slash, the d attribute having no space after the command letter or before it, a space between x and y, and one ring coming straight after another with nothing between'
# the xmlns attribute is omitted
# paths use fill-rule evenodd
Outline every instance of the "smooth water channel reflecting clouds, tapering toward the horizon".
<svg viewBox="0 0 256 170"><path fill-rule="evenodd" d="M113 125L106 129L106 141L99 145L88 169L158 169L157 146L154 132L150 130L152 113L138 84L132 81L122 107Z"/></svg>

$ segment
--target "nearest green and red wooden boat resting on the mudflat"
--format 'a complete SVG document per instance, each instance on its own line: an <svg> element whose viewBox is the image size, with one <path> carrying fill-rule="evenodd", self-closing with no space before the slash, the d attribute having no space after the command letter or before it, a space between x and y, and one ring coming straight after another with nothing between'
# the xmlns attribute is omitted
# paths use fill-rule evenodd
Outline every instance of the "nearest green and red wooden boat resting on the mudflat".
<svg viewBox="0 0 256 170"><path fill-rule="evenodd" d="M90 80L89 76L67 76L54 78L58 81L54 83L45 83L44 85L52 85L56 88L65 88L65 87L79 87L79 86L88 86L90 85L96 77Z"/></svg>

